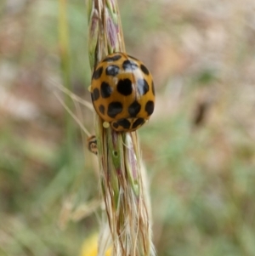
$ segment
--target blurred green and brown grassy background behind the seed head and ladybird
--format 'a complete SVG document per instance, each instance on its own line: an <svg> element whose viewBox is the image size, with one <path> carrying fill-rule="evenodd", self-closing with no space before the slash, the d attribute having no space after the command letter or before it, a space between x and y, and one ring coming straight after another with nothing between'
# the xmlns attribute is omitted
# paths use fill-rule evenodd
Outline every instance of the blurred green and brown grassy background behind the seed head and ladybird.
<svg viewBox="0 0 255 256"><path fill-rule="evenodd" d="M158 255L255 255L255 2L119 7L127 52L156 84L139 139ZM69 1L68 20L71 90L90 100L84 1ZM68 221L99 198L99 179L75 121L66 151L68 115L49 82L62 72L58 1L1 0L1 256L79 255L99 230L96 208ZM94 134L93 114L72 109Z"/></svg>

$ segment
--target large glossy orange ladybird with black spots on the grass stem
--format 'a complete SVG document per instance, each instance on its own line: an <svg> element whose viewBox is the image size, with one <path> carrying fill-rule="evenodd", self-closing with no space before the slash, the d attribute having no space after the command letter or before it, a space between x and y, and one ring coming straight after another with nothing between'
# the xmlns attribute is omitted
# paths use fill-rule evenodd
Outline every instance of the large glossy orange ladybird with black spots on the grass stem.
<svg viewBox="0 0 255 256"><path fill-rule="evenodd" d="M150 71L127 54L110 54L96 66L90 92L99 117L117 132L138 129L154 111Z"/></svg>

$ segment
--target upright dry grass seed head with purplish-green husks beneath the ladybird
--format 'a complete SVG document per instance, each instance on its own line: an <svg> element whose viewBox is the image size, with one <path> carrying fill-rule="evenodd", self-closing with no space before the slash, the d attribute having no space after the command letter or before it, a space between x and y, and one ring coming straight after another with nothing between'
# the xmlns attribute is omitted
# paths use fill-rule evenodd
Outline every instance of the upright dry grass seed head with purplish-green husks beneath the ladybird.
<svg viewBox="0 0 255 256"><path fill-rule="evenodd" d="M89 58L92 71L102 58L125 52L116 1L88 1ZM111 231L114 256L155 255L150 231L150 200L136 132L116 133L103 128L96 116L100 183ZM102 228L101 237L107 228ZM105 243L108 239L105 240ZM104 239L99 255L105 255Z"/></svg>

